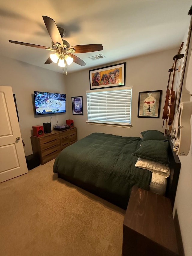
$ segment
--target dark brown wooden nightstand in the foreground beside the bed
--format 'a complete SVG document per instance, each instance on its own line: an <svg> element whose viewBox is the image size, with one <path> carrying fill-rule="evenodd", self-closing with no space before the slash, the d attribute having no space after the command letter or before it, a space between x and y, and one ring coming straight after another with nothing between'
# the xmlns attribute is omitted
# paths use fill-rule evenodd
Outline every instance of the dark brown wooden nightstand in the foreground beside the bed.
<svg viewBox="0 0 192 256"><path fill-rule="evenodd" d="M179 256L170 199L132 188L123 222L122 255Z"/></svg>

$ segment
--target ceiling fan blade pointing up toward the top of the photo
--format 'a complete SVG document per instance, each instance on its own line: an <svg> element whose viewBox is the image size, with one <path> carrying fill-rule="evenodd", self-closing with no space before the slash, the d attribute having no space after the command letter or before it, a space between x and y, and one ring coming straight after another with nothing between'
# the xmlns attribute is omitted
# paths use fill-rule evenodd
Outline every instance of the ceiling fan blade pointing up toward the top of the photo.
<svg viewBox="0 0 192 256"><path fill-rule="evenodd" d="M53 43L54 44L59 43L61 44L61 47L63 47L63 41L55 21L47 16L42 16L42 17Z"/></svg>

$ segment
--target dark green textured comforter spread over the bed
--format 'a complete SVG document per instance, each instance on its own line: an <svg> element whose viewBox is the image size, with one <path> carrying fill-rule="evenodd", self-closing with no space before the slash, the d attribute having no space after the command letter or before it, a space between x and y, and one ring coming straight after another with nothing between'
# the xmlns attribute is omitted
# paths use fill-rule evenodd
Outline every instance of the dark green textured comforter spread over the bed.
<svg viewBox="0 0 192 256"><path fill-rule="evenodd" d="M92 133L63 149L53 172L109 191L127 205L133 185L149 190L151 182L152 173L135 167L138 157L131 156L140 143L140 137Z"/></svg>

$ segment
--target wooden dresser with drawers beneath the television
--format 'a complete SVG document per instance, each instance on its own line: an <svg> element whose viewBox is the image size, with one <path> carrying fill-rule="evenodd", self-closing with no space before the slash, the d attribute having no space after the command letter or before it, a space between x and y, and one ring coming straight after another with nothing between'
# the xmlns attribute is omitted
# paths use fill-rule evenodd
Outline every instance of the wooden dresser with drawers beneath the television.
<svg viewBox="0 0 192 256"><path fill-rule="evenodd" d="M62 149L76 141L76 127L64 131L52 131L40 137L31 136L33 154L38 153L41 164L51 161Z"/></svg>

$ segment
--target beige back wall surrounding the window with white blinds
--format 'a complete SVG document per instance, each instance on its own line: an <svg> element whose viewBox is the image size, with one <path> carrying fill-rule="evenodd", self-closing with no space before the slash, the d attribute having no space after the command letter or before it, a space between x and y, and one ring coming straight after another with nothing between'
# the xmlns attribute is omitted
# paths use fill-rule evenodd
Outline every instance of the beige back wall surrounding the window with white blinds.
<svg viewBox="0 0 192 256"><path fill-rule="evenodd" d="M157 129L164 132L163 126L163 107L165 103L165 95L167 90L167 82L169 77L169 68L173 65L173 56L179 49L172 49L159 53L153 53L146 56L140 56L133 59L122 60L116 63L126 62L126 86L132 86L132 110L131 110L131 128L92 125L87 124L86 109L86 91L89 90L89 71L83 70L66 76L66 84L68 85L68 97L83 96L83 116L72 115L70 118L74 120L77 127L78 139L85 137L92 132L104 132L121 136L138 136L141 131L148 129ZM97 63L97 61L95 62ZM113 65L116 63L110 63ZM100 66L102 67L102 65ZM91 68L93 69L93 68ZM163 90L161 99L160 118L137 118L138 96L143 91ZM72 106L69 104L69 112L72 113Z"/></svg>

